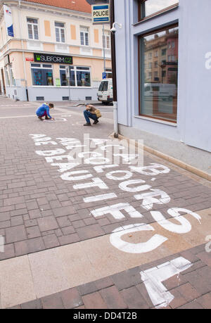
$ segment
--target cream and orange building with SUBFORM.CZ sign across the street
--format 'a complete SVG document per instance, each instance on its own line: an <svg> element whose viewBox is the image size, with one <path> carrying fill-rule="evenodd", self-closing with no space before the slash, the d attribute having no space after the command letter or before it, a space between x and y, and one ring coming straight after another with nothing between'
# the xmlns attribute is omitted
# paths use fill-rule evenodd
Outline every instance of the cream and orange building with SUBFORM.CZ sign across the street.
<svg viewBox="0 0 211 323"><path fill-rule="evenodd" d="M0 70L11 99L96 100L102 72L111 77L110 26L92 25L86 0L1 1Z"/></svg>

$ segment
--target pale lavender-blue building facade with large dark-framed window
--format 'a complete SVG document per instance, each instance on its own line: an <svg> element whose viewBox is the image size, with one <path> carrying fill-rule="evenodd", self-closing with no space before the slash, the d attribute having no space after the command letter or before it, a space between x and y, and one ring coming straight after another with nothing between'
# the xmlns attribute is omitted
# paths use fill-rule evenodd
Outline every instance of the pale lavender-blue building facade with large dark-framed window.
<svg viewBox="0 0 211 323"><path fill-rule="evenodd" d="M120 133L211 151L210 0L115 0Z"/></svg>

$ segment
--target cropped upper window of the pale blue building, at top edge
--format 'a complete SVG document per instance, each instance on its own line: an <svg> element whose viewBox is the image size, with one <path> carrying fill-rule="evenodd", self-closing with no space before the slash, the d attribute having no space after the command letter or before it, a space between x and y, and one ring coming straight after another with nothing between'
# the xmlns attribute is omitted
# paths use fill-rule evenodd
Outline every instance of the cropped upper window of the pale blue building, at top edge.
<svg viewBox="0 0 211 323"><path fill-rule="evenodd" d="M139 0L139 21L165 9L174 8L179 0Z"/></svg>

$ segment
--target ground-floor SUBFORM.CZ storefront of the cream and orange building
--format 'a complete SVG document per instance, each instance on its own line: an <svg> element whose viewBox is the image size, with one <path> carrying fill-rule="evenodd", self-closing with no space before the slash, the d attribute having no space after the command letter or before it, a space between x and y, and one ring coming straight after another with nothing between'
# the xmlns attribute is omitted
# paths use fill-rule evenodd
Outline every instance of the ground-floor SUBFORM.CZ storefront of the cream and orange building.
<svg viewBox="0 0 211 323"><path fill-rule="evenodd" d="M96 93L99 81L94 81L91 75L96 66L93 58L74 58L51 53L27 53L25 61L20 61L20 53L12 53L13 63L9 63L10 55L6 56L4 75L6 78L6 95L11 99L29 101L68 101L97 100ZM19 65L25 65L26 80L18 75ZM97 63L100 63L98 60ZM13 76L13 65L15 75ZM70 77L67 77L70 68ZM110 75L108 69L108 75ZM25 85L25 83L27 85ZM2 87L1 87L1 90ZM26 91L27 90L27 91Z"/></svg>

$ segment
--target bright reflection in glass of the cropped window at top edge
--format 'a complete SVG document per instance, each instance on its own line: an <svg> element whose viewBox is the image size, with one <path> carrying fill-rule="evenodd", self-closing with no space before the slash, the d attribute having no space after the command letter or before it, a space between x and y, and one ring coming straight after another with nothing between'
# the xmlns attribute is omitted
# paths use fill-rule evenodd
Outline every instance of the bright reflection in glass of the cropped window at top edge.
<svg viewBox="0 0 211 323"><path fill-rule="evenodd" d="M179 0L146 0L142 4L142 18L157 13L174 4L178 4Z"/></svg>

